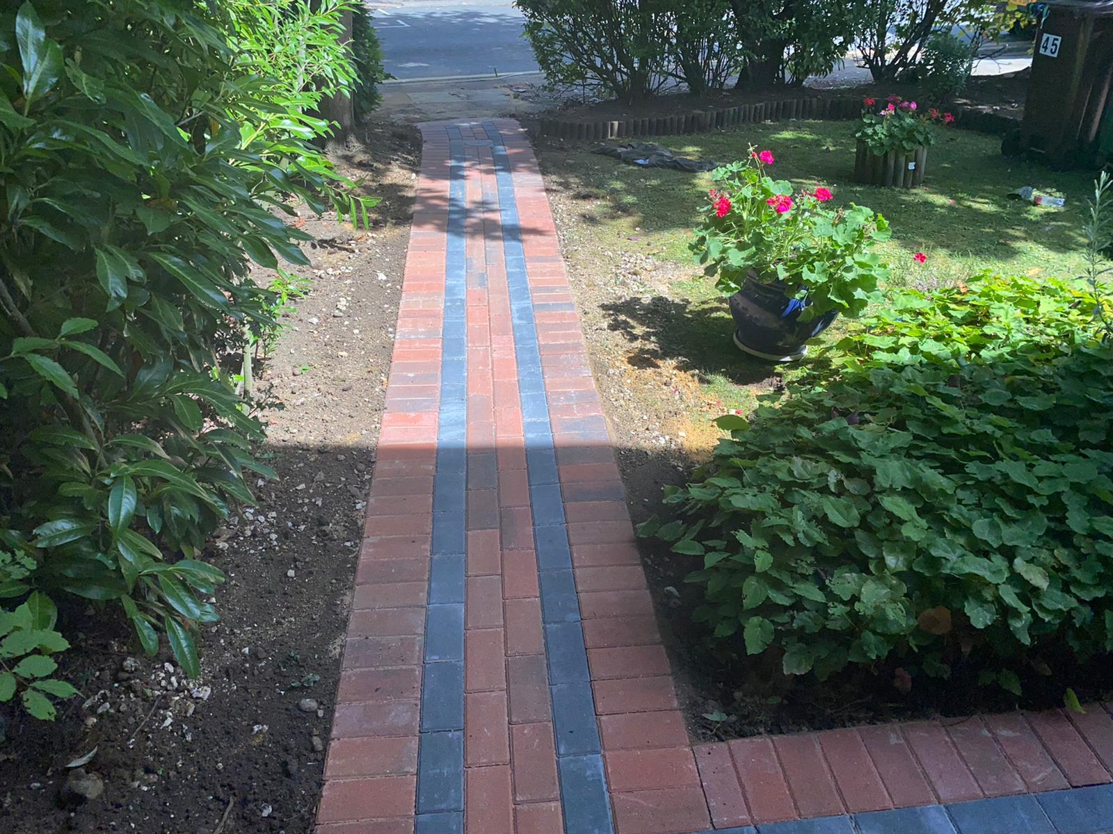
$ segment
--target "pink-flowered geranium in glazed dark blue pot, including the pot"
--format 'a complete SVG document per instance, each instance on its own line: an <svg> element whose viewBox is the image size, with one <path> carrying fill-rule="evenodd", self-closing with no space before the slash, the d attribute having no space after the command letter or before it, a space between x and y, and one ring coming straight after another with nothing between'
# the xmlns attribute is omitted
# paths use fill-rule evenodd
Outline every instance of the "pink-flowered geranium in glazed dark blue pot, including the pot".
<svg viewBox="0 0 1113 834"><path fill-rule="evenodd" d="M692 251L728 297L735 344L788 361L838 314L856 317L877 296L888 268L873 251L888 222L865 206L831 209L817 186L799 193L767 172L771 151L717 169Z"/></svg>

